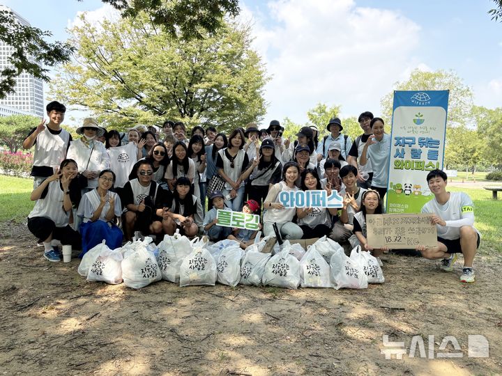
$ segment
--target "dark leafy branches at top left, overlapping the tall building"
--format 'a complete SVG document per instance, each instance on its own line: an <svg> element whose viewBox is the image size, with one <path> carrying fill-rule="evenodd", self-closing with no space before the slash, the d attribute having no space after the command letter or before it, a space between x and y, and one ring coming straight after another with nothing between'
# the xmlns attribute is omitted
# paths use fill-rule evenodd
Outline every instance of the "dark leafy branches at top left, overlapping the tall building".
<svg viewBox="0 0 502 376"><path fill-rule="evenodd" d="M49 69L45 67L70 60L73 47L66 42L46 42L50 36L49 31L20 24L12 12L0 10L0 40L14 49L9 65L1 70L0 99L14 92L16 77L23 71L49 81Z"/></svg>

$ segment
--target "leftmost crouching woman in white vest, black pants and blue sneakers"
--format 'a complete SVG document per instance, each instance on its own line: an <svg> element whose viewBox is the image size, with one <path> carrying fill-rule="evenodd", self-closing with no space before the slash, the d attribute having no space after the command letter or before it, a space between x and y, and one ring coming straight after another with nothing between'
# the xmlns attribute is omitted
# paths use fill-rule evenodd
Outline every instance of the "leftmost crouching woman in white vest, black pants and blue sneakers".
<svg viewBox="0 0 502 376"><path fill-rule="evenodd" d="M61 261L61 253L53 248L52 240L74 249L81 246L80 234L69 225L72 205L80 200L77 171L73 159L64 159L59 170L31 192L30 199L36 204L28 215L28 229L43 242L44 257L53 263Z"/></svg>

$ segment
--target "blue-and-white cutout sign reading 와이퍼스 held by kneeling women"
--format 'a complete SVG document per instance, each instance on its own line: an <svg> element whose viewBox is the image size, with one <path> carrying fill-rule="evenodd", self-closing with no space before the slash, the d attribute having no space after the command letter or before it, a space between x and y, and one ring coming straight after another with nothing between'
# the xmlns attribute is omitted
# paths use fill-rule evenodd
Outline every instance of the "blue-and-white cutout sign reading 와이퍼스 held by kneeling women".
<svg viewBox="0 0 502 376"><path fill-rule="evenodd" d="M343 207L343 198L333 189L328 197L324 190L282 191L279 202L286 208L291 207Z"/></svg>

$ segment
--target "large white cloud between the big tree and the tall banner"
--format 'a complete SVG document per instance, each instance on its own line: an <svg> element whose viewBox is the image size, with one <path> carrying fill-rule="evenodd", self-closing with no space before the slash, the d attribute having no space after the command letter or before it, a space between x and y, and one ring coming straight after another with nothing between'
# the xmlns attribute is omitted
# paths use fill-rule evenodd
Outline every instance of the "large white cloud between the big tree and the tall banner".
<svg viewBox="0 0 502 376"><path fill-rule="evenodd" d="M395 11L360 8L351 0L270 1L268 12L241 3L252 19L254 48L273 79L265 123L288 116L305 122L317 102L342 104L342 115L379 113L380 99L415 61L420 26Z"/></svg>

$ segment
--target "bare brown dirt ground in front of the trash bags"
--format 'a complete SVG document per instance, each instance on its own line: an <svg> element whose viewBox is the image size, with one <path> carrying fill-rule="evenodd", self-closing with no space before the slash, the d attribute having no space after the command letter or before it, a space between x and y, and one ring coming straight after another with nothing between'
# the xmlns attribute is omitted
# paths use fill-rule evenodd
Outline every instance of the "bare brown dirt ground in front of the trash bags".
<svg viewBox="0 0 502 376"><path fill-rule="evenodd" d="M238 285L142 290L90 283L78 259L49 263L25 226L0 226L0 373L5 375L502 374L502 257L481 248L477 281L387 254L367 290ZM383 335L404 341L386 359ZM469 335L489 357L469 357ZM413 336L425 356L409 357ZM433 349L429 336L434 336ZM454 336L439 350L443 338ZM415 337L417 340L417 337Z"/></svg>

